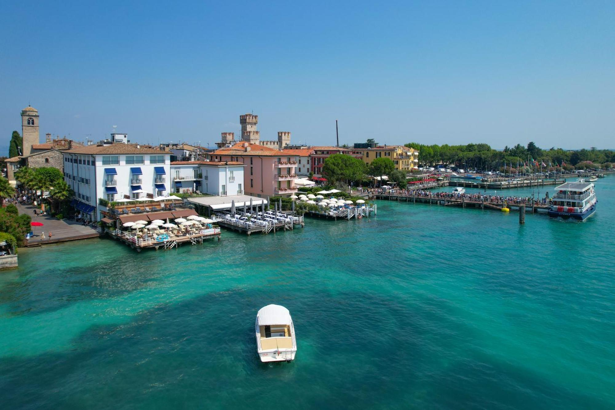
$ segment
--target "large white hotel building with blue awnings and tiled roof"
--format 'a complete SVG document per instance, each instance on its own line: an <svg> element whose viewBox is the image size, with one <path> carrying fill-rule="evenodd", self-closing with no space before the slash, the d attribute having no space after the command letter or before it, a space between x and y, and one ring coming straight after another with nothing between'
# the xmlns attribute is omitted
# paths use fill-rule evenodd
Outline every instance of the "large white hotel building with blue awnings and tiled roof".
<svg viewBox="0 0 615 410"><path fill-rule="evenodd" d="M77 147L64 151L64 179L73 188L71 205L89 220L100 220L99 199L154 198L170 194L171 153L138 145Z"/></svg>

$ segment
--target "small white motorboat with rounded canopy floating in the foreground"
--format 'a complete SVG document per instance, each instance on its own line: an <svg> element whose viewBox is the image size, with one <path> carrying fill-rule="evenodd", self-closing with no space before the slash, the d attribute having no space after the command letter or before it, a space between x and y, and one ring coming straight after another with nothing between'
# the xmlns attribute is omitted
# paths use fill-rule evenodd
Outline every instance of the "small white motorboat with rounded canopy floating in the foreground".
<svg viewBox="0 0 615 410"><path fill-rule="evenodd" d="M295 360L297 352L295 326L287 308L267 305L258 311L256 349L261 361Z"/></svg>

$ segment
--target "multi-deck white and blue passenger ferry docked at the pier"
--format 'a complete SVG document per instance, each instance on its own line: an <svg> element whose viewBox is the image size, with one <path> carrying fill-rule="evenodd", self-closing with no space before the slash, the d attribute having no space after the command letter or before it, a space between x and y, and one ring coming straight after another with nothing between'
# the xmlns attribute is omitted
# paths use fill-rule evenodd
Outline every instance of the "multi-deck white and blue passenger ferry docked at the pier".
<svg viewBox="0 0 615 410"><path fill-rule="evenodd" d="M549 216L584 220L593 214L597 203L593 183L582 179L577 182L566 182L555 188Z"/></svg>

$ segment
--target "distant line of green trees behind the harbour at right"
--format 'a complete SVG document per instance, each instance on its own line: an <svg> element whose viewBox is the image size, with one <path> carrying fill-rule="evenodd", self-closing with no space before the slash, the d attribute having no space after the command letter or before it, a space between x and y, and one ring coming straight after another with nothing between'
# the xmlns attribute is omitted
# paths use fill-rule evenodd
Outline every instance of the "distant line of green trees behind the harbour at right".
<svg viewBox="0 0 615 410"><path fill-rule="evenodd" d="M526 147L517 144L514 147L504 147L498 151L485 143L469 143L467 145L424 145L410 142L406 147L419 150L419 161L425 165L434 166L436 164L455 164L459 167L469 169L499 169L506 164L506 167L525 164L528 160L538 161L539 164L552 164L552 167L561 166L562 161L565 167L572 169L575 166L592 167L603 166L615 162L615 151L597 150L592 147L590 150L566 151L562 148L549 148L544 150L536 146L534 142L529 142ZM592 166L587 166L591 164Z"/></svg>

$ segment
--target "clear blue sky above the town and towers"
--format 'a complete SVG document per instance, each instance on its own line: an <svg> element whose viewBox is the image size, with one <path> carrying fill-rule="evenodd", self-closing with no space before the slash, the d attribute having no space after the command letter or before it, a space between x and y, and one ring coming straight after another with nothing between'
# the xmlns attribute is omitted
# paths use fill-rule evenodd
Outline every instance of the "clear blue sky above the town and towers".
<svg viewBox="0 0 615 410"><path fill-rule="evenodd" d="M0 146L46 132L615 148L615 2L3 2ZM0 150L4 152L6 150Z"/></svg>

